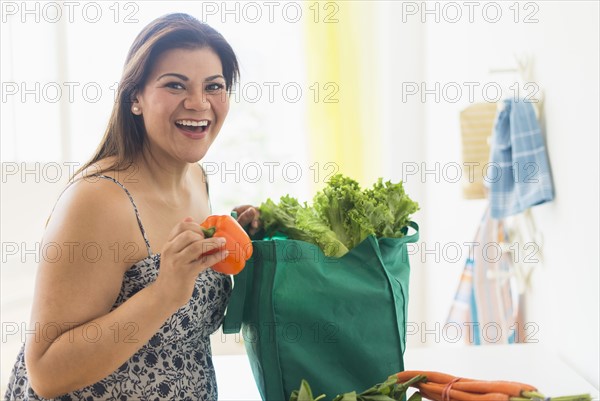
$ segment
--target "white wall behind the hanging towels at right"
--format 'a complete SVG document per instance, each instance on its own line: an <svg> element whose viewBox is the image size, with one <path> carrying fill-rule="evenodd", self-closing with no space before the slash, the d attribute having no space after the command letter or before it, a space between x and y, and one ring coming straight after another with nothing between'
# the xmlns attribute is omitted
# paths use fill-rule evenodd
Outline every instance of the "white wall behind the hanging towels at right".
<svg viewBox="0 0 600 401"><path fill-rule="evenodd" d="M519 77L490 75L489 70L514 66L515 54L533 56L534 81L545 93L542 125L556 199L533 210L544 236L544 263L536 267L526 294L525 321L539 328L535 339L556 349L569 365L598 387L599 6L597 2L536 2L536 10L525 9L520 3L521 13L515 23L514 11L509 9L514 3L500 4L503 17L497 23L486 21L481 6L475 9L473 22L463 15L460 22L451 23L453 10L447 9L444 19L441 8L439 22L435 21L435 14L405 17L407 21L427 21L422 31L412 32L415 36L411 40L422 43L423 38L417 35L424 33L423 65L428 89L434 88L436 82L441 87L452 82L483 85L492 81L504 86L507 80L516 82ZM430 4L430 10L433 7ZM398 6L397 12L401 11ZM466 13L466 7L462 11ZM494 14L488 11L491 20ZM538 22L523 22L530 13ZM399 15L396 14L397 19ZM403 39L402 29L394 30L399 41ZM395 58L397 63L414 63L400 52ZM481 91L476 90L475 94L474 100L481 101ZM421 141L415 149L424 152L396 163L425 161L428 169L433 169L436 162L441 166L461 163L459 112L471 103L467 93L456 103L443 96L436 102L433 95L425 100L424 129L415 132ZM395 101L400 104L399 99ZM396 154L396 149L390 148L390 155ZM450 242L471 241L485 202L464 200L460 184L448 182L443 174L438 179L428 175L421 184L425 191L425 207L419 221L421 246L432 249L436 243L443 247ZM443 325L464 258L449 263L442 255L436 263L433 255L421 252L415 256L413 260L425 258L426 263L419 266L424 270L415 277L419 282L411 283L421 293L411 297L411 302L424 303L419 310L424 312L423 322L428 328L436 322ZM414 319L409 316L409 320Z"/></svg>

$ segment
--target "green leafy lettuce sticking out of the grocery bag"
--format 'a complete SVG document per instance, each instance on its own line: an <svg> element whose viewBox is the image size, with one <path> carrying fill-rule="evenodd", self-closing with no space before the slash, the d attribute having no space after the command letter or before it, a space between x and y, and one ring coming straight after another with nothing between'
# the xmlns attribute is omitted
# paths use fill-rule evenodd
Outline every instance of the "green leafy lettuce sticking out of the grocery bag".
<svg viewBox="0 0 600 401"><path fill-rule="evenodd" d="M363 190L355 180L337 174L317 192L312 206L285 195L279 203L267 199L259 209L267 236L280 233L340 257L369 235L403 237L419 206L406 195L402 182L380 178Z"/></svg>

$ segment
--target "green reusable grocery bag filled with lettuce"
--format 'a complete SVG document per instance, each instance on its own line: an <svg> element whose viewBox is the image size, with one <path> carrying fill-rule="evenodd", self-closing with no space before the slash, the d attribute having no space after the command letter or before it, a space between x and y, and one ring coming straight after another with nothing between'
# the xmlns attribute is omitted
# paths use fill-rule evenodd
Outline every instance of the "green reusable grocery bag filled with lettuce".
<svg viewBox="0 0 600 401"><path fill-rule="evenodd" d="M367 237L341 258L304 241L253 241L223 322L242 330L263 400L289 400L302 379L328 399L404 370L409 260L402 238Z"/></svg>

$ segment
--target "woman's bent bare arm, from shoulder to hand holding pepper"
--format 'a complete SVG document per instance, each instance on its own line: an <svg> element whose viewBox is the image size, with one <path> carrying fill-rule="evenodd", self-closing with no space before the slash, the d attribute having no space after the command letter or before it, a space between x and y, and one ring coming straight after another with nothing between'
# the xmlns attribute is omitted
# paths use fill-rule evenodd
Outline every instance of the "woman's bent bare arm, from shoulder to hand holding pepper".
<svg viewBox="0 0 600 401"><path fill-rule="evenodd" d="M109 206L110 205L110 206ZM123 273L134 262L115 258L141 235L129 200L111 183L73 185L57 204L44 243L62 256L42 260L32 311L35 334L26 342L26 365L33 389L44 398L93 384L108 376L188 302L199 273L224 257L198 258L207 247L191 219L173 228L161 250L157 280L110 311Z"/></svg>

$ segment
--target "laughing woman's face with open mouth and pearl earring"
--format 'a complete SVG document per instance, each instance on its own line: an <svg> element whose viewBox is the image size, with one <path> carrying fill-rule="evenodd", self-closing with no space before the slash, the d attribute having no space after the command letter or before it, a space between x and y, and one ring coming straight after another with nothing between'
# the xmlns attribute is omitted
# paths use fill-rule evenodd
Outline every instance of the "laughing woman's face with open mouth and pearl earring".
<svg viewBox="0 0 600 401"><path fill-rule="evenodd" d="M221 60L208 47L165 51L132 106L155 157L201 160L229 111Z"/></svg>

